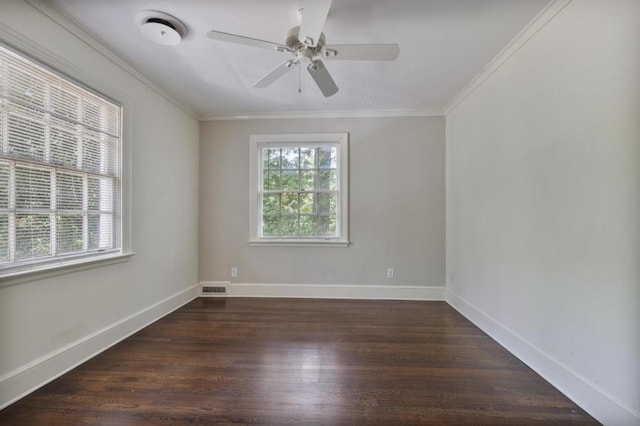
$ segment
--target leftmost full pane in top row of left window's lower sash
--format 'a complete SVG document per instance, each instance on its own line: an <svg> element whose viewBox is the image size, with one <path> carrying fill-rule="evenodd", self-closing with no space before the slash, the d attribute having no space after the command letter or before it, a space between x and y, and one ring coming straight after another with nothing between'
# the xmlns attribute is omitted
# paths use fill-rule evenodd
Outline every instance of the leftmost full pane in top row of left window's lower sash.
<svg viewBox="0 0 640 426"><path fill-rule="evenodd" d="M51 208L51 172L30 166L16 166L16 208Z"/></svg>

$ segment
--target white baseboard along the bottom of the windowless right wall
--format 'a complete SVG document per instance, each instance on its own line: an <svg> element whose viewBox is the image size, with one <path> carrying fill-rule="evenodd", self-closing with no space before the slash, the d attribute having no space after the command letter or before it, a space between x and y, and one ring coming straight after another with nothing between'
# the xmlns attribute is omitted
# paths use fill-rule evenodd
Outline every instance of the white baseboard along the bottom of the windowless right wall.
<svg viewBox="0 0 640 426"><path fill-rule="evenodd" d="M605 425L640 426L640 413L448 289L446 301L598 421Z"/></svg>

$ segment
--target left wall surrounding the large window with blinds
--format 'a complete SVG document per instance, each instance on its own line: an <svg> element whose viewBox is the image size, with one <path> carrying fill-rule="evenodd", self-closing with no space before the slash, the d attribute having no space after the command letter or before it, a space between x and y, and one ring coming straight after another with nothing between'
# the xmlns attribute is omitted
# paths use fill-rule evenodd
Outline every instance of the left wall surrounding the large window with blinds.
<svg viewBox="0 0 640 426"><path fill-rule="evenodd" d="M198 122L26 2L2 1L0 32L91 76L131 108L136 252L124 263L0 282L2 407L197 295Z"/></svg>

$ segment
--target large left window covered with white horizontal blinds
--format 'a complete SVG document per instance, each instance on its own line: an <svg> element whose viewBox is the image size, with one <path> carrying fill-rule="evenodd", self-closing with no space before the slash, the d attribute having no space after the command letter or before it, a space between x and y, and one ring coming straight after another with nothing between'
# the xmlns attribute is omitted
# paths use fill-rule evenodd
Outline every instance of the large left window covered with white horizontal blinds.
<svg viewBox="0 0 640 426"><path fill-rule="evenodd" d="M0 275L121 248L121 107L0 45Z"/></svg>

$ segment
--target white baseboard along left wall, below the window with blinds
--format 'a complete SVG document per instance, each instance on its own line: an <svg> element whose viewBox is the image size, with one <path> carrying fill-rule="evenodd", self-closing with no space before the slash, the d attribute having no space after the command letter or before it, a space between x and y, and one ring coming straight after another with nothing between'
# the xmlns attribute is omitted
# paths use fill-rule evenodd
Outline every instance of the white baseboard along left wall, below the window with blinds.
<svg viewBox="0 0 640 426"><path fill-rule="evenodd" d="M198 297L194 285L0 377L0 410Z"/></svg>

